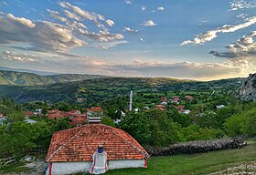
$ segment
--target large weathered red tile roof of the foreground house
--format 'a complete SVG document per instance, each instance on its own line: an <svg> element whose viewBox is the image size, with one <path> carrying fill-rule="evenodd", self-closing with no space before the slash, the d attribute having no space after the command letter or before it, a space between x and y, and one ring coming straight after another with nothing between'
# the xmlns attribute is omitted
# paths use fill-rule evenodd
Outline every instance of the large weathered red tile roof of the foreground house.
<svg viewBox="0 0 256 175"><path fill-rule="evenodd" d="M144 148L122 129L103 124L87 124L53 134L46 161L92 161L91 155L104 145L108 160L143 160Z"/></svg>

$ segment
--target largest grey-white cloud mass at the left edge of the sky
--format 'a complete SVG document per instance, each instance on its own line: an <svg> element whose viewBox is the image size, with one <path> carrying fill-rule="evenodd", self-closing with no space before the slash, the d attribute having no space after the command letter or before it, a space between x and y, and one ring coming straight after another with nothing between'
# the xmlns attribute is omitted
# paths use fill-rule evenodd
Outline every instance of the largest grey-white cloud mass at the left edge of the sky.
<svg viewBox="0 0 256 175"><path fill-rule="evenodd" d="M30 45L26 48L39 52L66 52L87 43L74 36L71 29L56 23L37 21L14 15L0 16L0 43Z"/></svg>

